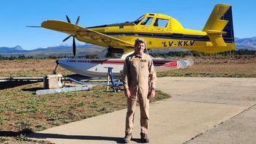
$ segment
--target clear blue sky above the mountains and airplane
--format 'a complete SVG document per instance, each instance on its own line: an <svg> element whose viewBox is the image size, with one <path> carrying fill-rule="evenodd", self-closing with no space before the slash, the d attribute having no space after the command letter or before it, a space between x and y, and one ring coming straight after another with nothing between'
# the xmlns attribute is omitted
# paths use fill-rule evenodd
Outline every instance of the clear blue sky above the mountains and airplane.
<svg viewBox="0 0 256 144"><path fill-rule="evenodd" d="M63 44L67 34L26 26L40 26L44 20L66 21L65 15L72 23L80 15L79 25L89 27L133 21L155 12L176 18L186 29L202 30L215 4L232 6L235 37L256 37L255 0L1 0L0 47L20 45L32 50Z"/></svg>

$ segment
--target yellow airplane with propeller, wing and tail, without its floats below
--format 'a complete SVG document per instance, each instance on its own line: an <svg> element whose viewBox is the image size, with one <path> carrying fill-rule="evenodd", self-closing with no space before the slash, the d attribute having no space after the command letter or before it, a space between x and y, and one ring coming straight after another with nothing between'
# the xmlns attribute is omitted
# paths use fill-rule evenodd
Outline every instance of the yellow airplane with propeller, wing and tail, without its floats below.
<svg viewBox="0 0 256 144"><path fill-rule="evenodd" d="M157 13L147 13L133 22L87 28L78 26L79 19L75 24L68 17L68 22L45 20L41 26L73 37L74 56L75 39L110 50L121 50L123 56L134 51L134 42L138 37L146 40L148 49L186 48L204 53L235 50L232 9L227 4L214 7L202 31L184 29L175 18Z"/></svg>

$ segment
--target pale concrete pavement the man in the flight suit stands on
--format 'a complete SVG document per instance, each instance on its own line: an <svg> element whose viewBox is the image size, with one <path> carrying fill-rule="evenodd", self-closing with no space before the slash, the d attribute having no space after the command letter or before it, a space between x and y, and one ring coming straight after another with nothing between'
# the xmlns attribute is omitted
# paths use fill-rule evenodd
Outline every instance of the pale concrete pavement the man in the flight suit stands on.
<svg viewBox="0 0 256 144"><path fill-rule="evenodd" d="M159 77L172 98L151 103L150 143L256 143L256 78ZM134 139L140 143L139 107ZM122 143L126 110L31 135L53 143Z"/></svg>

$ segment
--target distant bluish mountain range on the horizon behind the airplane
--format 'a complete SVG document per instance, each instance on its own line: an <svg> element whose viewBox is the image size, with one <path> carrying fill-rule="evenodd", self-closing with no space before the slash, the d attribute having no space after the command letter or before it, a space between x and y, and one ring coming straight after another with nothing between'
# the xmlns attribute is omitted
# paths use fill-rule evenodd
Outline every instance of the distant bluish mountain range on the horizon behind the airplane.
<svg viewBox="0 0 256 144"><path fill-rule="evenodd" d="M256 37L250 38L235 38L236 50L248 49L256 50ZM83 56L85 54L97 54L102 55L105 53L106 48L84 44L77 46L77 55ZM48 48L36 48L34 50L24 50L20 45L14 48L0 47L1 56L35 56L35 57L45 57L45 56L72 56L72 46L71 45L57 45Z"/></svg>

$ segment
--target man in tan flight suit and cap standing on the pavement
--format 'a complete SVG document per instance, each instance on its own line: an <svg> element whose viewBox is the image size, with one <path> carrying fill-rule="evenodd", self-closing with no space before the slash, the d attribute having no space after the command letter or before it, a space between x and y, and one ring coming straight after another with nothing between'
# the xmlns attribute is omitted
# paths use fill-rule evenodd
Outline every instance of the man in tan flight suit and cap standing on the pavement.
<svg viewBox="0 0 256 144"><path fill-rule="evenodd" d="M140 139L148 143L149 99L155 96L157 82L152 58L143 53L146 42L135 40L135 53L127 56L124 62L124 94L127 96L127 118L124 142L132 139L132 129L136 102L140 103Z"/></svg>

